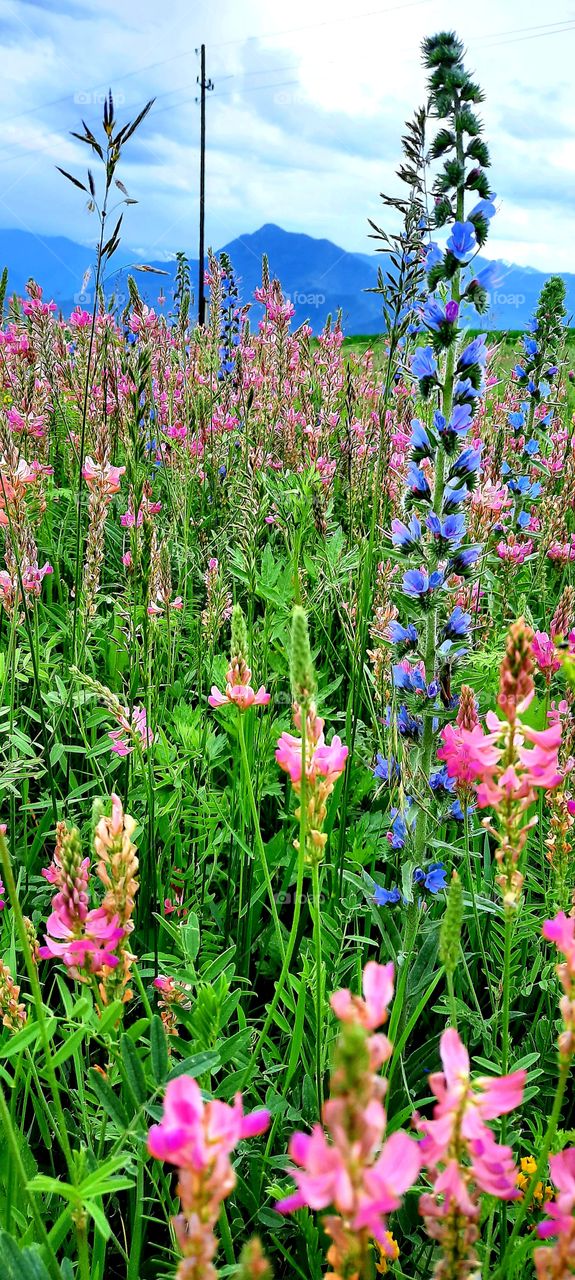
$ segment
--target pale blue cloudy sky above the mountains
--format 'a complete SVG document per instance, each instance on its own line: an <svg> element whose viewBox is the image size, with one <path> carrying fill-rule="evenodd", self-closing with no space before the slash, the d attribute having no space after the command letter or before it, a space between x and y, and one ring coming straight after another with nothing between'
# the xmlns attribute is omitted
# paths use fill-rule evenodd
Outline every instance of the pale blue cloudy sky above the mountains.
<svg viewBox="0 0 575 1280"><path fill-rule="evenodd" d="M196 255L205 42L206 243L278 223L370 252L368 219L387 218L379 192L398 192L403 122L425 101L420 42L446 28L485 92L489 256L575 270L575 0L0 0L0 228L93 242L55 166L82 177L69 131L97 128L111 86L122 122L156 99L120 161L138 201L124 243Z"/></svg>

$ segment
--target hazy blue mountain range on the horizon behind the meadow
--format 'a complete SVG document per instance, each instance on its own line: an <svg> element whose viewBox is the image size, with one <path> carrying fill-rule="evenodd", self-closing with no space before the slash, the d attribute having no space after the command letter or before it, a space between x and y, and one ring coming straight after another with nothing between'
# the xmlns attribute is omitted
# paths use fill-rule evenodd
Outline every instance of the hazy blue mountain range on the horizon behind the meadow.
<svg viewBox="0 0 575 1280"><path fill-rule="evenodd" d="M257 232L238 236L223 246L229 255L239 284L242 301L248 301L261 283L261 257L268 255L270 271L278 276L284 293L296 308L297 325L307 320L318 333L329 314L339 308L347 334L375 334L382 328L382 308L373 293L377 283L378 253L348 253L328 239L315 239L286 232L273 223ZM485 260L478 260L483 262ZM127 294L126 276L133 271L141 255L122 247L113 259L114 270L105 282L106 294L115 291L117 300ZM45 297L54 298L67 315L78 302L90 306L93 289L93 251L64 237L40 237L29 232L0 232L0 268L9 270L9 292L22 294L33 276ZM175 262L150 261L147 265L168 274L164 276L136 273L138 288L155 303L160 287L170 297ZM191 260L192 283L197 288L197 260ZM485 329L522 329L531 315L547 275L533 268L498 262L498 283L492 289L490 310L483 319ZM575 311L575 275L563 275L567 307Z"/></svg>

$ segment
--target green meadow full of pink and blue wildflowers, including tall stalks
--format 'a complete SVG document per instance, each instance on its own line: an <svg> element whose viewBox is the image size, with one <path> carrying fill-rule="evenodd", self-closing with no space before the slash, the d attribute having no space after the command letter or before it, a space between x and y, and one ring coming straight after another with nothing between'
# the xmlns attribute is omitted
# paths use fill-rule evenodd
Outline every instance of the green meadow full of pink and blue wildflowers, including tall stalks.
<svg viewBox="0 0 575 1280"><path fill-rule="evenodd" d="M111 97L93 308L3 278L1 1280L575 1274L572 335L424 91L373 343L117 307Z"/></svg>

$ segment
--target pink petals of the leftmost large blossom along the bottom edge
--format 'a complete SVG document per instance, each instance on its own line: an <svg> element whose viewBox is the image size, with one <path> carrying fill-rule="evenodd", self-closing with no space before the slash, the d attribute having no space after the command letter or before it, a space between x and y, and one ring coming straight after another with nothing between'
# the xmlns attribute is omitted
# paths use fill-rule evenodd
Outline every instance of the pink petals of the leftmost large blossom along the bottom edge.
<svg viewBox="0 0 575 1280"><path fill-rule="evenodd" d="M242 1138L265 1133L269 1120L264 1110L246 1116L241 1093L233 1106L216 1098L204 1102L197 1082L178 1075L168 1084L164 1115L150 1129L147 1149L156 1160L200 1172L219 1157L228 1157Z"/></svg>

